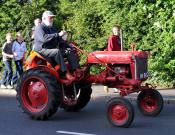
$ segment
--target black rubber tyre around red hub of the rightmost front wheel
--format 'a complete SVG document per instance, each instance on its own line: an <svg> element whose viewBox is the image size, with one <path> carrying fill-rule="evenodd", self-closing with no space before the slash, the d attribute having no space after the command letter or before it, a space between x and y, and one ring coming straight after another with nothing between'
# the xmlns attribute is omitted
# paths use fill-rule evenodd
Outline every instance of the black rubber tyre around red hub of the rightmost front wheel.
<svg viewBox="0 0 175 135"><path fill-rule="evenodd" d="M156 109L153 112L148 112L142 107L141 100L143 100L143 98L146 95L149 95L149 96L156 98L158 109ZM164 106L163 97L161 96L161 94L157 90L153 90L153 89L143 90L137 96L137 106L143 115L145 115L145 116L157 116L162 111L163 106Z"/></svg>

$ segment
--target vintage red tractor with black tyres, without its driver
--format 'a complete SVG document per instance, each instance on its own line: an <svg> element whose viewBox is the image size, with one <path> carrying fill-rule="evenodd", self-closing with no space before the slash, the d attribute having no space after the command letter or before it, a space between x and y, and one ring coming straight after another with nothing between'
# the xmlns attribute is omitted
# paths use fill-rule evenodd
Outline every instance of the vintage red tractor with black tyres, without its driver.
<svg viewBox="0 0 175 135"><path fill-rule="evenodd" d="M56 113L58 107L66 111L79 111L90 101L92 83L117 88L120 97L112 98L106 107L110 123L129 127L134 119L132 104L124 96L138 92L137 105L147 116L158 115L163 98L158 91L143 81L148 78L148 53L144 51L96 51L88 54L81 74L70 84L62 82L59 65L37 52L31 52L26 71L17 83L17 100L23 111L33 119L45 120ZM92 65L103 65L105 70L92 75Z"/></svg>

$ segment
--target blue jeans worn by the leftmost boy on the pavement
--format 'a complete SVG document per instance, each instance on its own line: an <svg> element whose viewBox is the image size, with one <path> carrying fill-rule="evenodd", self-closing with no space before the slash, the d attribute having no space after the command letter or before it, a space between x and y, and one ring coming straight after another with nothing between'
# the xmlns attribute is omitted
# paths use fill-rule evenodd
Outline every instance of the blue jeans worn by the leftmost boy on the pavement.
<svg viewBox="0 0 175 135"><path fill-rule="evenodd" d="M12 80L12 74L13 74L12 61L7 60L7 61L3 61L3 63L5 66L4 66L4 73L3 73L1 84L10 85Z"/></svg>

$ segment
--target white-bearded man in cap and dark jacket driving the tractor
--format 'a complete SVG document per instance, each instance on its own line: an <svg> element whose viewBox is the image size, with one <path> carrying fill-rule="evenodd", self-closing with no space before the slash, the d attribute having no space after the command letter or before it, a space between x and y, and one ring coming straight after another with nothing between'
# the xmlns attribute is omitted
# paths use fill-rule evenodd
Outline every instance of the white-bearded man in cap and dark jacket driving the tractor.
<svg viewBox="0 0 175 135"><path fill-rule="evenodd" d="M64 57L67 58L72 71L79 67L79 63L69 44L59 36L58 31L52 26L54 16L51 11L43 13L42 23L35 29L34 50L59 64L61 73L65 75L66 79L72 81L75 77L67 71Z"/></svg>

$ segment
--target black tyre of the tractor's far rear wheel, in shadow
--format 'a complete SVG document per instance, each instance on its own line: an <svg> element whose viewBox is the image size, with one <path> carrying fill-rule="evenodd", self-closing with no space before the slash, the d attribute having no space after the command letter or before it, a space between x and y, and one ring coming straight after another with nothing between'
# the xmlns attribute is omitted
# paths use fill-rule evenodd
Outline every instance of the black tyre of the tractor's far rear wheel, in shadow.
<svg viewBox="0 0 175 135"><path fill-rule="evenodd" d="M77 103L74 105L67 105L62 102L61 108L68 112L77 112L83 109L91 99L92 88L91 84L79 85L77 92L80 90L80 95L78 96Z"/></svg>

